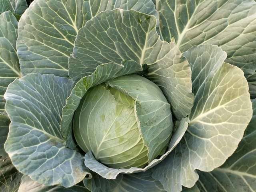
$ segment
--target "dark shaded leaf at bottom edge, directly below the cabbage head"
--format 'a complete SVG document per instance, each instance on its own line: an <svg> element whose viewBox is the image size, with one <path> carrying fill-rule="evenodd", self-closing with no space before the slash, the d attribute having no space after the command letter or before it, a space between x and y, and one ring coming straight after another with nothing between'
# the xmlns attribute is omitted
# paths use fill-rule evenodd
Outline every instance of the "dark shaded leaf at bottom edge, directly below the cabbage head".
<svg viewBox="0 0 256 192"><path fill-rule="evenodd" d="M160 182L151 177L152 172L120 175L115 180L108 180L93 174L91 180L84 180L92 192L165 192Z"/></svg>

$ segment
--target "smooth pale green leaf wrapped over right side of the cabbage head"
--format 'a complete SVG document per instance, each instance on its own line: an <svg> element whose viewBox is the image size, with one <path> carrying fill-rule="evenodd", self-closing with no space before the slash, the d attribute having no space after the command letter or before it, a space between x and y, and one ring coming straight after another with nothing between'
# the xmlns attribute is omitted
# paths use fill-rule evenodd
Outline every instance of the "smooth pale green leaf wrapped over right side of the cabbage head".
<svg viewBox="0 0 256 192"><path fill-rule="evenodd" d="M136 115L151 162L170 142L173 129L170 104L160 88L142 76L121 76L107 84L136 100Z"/></svg>

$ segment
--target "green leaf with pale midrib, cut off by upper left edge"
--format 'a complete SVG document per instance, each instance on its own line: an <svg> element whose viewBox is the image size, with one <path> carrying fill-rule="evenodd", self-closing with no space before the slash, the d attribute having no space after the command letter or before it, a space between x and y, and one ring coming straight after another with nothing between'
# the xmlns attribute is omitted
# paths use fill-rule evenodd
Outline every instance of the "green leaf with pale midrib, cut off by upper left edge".
<svg viewBox="0 0 256 192"><path fill-rule="evenodd" d="M10 11L2 13L0 21L0 112L4 112L4 92L21 74L15 48L18 22Z"/></svg>

